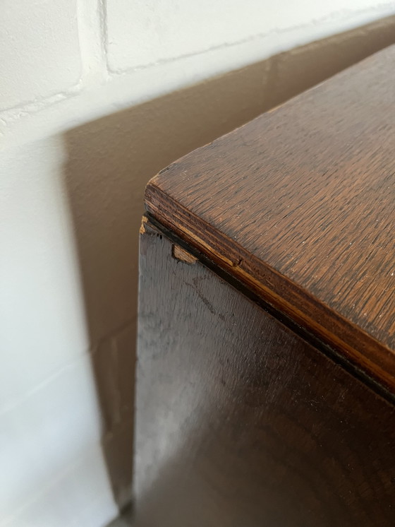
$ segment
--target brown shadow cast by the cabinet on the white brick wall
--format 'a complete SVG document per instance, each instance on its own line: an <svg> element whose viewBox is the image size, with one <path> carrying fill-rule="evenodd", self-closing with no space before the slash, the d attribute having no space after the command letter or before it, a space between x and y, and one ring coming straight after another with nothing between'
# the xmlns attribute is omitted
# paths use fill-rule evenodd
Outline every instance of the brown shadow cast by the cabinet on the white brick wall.
<svg viewBox="0 0 395 527"><path fill-rule="evenodd" d="M66 134L66 189L104 420L103 451L119 507L131 496L138 230L145 184L190 150L391 45L394 28L395 17L379 20Z"/></svg>

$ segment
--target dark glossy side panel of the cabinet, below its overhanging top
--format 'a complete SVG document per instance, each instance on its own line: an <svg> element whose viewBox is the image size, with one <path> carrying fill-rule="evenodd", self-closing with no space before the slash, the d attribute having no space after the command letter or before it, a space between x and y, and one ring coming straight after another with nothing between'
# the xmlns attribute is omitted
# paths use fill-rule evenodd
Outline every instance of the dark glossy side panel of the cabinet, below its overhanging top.
<svg viewBox="0 0 395 527"><path fill-rule="evenodd" d="M140 239L136 527L393 527L394 405Z"/></svg>

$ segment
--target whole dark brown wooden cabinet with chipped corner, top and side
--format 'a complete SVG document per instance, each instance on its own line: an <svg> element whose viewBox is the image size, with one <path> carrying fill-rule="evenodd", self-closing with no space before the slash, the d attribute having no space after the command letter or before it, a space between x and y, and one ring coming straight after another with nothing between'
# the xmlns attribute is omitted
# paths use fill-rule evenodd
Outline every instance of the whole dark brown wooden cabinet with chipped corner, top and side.
<svg viewBox="0 0 395 527"><path fill-rule="evenodd" d="M138 527L395 525L394 66L391 47L148 184Z"/></svg>

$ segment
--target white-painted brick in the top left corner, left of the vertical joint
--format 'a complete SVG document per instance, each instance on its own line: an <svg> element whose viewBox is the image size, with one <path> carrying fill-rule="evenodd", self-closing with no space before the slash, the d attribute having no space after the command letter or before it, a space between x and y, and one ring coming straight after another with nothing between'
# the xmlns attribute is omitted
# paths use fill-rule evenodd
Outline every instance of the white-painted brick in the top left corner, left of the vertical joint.
<svg viewBox="0 0 395 527"><path fill-rule="evenodd" d="M77 0L2 0L0 109L71 88L81 75Z"/></svg>

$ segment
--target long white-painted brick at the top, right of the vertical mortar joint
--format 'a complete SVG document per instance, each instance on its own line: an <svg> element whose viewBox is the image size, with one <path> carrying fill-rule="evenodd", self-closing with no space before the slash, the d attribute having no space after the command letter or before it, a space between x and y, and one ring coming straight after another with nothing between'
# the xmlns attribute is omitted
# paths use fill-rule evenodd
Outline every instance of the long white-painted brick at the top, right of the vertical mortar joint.
<svg viewBox="0 0 395 527"><path fill-rule="evenodd" d="M303 28L305 36L309 25L370 8L371 0L108 0L109 66L128 71L295 28Z"/></svg>

